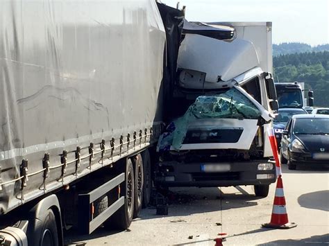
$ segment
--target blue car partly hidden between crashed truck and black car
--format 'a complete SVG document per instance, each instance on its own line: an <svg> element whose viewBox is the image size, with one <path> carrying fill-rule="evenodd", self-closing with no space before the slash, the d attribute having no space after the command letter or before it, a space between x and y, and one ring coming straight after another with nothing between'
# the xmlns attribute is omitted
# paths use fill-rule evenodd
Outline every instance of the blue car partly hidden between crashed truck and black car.
<svg viewBox="0 0 329 246"><path fill-rule="evenodd" d="M290 118L296 114L307 114L305 109L294 109L294 108L283 108L278 109L278 115L274 118L273 128L274 134L276 135L276 143L278 143L278 150L280 149L281 142L281 133L285 130L285 126L287 125Z"/></svg>

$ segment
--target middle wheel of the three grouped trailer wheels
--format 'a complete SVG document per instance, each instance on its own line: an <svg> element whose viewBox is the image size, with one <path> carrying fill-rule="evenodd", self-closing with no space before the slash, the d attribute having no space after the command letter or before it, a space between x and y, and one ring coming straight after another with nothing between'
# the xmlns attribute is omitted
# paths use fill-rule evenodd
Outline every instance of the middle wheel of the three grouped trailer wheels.
<svg viewBox="0 0 329 246"><path fill-rule="evenodd" d="M133 157L133 164L135 170L135 202L134 202L134 217L137 218L142 210L143 201L143 184L144 184L144 170L142 156L138 154Z"/></svg>

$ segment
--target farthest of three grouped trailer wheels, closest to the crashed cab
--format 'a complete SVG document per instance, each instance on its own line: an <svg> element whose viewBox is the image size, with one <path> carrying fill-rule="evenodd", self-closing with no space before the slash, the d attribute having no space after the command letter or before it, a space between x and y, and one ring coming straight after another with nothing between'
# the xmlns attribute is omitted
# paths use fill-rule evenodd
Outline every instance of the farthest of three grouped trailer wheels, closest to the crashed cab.
<svg viewBox="0 0 329 246"><path fill-rule="evenodd" d="M143 186L143 208L146 208L151 200L152 177L151 177L151 157L149 150L142 152L144 186Z"/></svg>

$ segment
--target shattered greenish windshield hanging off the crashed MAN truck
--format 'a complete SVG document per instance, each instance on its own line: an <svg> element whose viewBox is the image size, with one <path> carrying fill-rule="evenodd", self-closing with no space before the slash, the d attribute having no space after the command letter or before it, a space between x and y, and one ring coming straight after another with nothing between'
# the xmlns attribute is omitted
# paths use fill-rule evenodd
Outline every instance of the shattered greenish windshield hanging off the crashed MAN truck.
<svg viewBox="0 0 329 246"><path fill-rule="evenodd" d="M260 109L239 90L229 89L215 96L199 96L187 112L171 122L158 141L158 151L179 150L187 134L189 123L199 118L248 118L258 119Z"/></svg>

